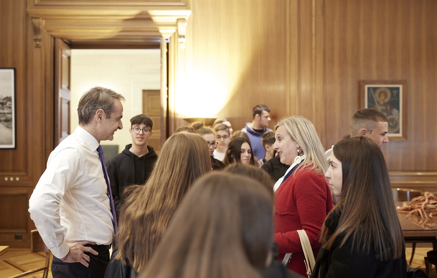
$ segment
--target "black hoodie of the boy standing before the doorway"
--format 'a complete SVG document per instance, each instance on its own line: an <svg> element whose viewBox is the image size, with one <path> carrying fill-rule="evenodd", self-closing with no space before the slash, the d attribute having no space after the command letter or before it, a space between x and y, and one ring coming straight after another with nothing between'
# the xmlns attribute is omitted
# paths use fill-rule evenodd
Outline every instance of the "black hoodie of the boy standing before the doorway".
<svg viewBox="0 0 437 278"><path fill-rule="evenodd" d="M144 184L158 159L158 155L149 145L147 145L149 152L140 158L129 151L131 147L132 144L126 145L120 154L108 161L108 176L117 216L120 211L120 194L123 189L126 185Z"/></svg>

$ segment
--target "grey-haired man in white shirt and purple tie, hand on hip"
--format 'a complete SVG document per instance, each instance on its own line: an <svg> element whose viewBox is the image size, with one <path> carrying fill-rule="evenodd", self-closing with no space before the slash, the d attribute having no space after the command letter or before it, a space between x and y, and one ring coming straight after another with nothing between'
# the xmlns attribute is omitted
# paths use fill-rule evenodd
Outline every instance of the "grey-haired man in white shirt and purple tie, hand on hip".
<svg viewBox="0 0 437 278"><path fill-rule="evenodd" d="M31 219L54 255L54 278L104 277L115 223L97 149L123 128L124 100L102 87L83 94L79 126L52 151L29 200Z"/></svg>

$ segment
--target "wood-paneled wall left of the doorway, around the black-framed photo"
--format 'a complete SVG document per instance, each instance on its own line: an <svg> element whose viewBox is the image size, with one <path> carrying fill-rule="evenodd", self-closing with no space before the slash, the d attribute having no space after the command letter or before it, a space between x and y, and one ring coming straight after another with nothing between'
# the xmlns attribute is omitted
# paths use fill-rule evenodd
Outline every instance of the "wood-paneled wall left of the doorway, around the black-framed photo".
<svg viewBox="0 0 437 278"><path fill-rule="evenodd" d="M32 118L29 109L27 71L27 31L25 0L0 1L0 67L15 68L16 79L16 148L0 149L0 245L27 247L30 244L29 192L34 186L32 163L40 164L41 119ZM35 122L34 122L35 120ZM35 129L31 127L34 126ZM36 131L35 131L36 130ZM22 233L22 240L14 234Z"/></svg>

